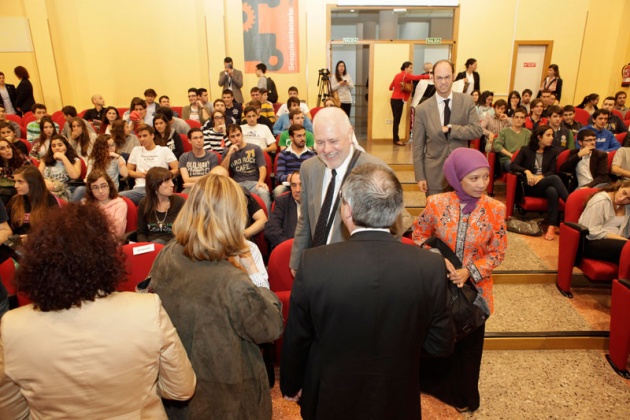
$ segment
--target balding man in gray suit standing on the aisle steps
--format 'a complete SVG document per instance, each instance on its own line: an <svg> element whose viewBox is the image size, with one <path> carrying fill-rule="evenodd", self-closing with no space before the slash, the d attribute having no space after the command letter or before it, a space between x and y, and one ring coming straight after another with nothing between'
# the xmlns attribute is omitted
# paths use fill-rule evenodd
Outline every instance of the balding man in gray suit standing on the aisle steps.
<svg viewBox="0 0 630 420"><path fill-rule="evenodd" d="M472 96L452 91L453 73L450 61L435 63L435 95L416 107L413 166L418 188L427 196L446 190L442 166L448 155L483 134Z"/></svg>

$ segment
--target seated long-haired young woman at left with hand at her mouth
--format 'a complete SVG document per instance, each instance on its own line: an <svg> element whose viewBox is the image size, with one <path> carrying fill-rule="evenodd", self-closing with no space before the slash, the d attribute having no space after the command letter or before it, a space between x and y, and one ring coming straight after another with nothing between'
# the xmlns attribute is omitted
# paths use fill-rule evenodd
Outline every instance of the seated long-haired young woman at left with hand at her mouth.
<svg viewBox="0 0 630 420"><path fill-rule="evenodd" d="M81 159L64 136L53 136L50 148L39 163L39 171L48 191L68 201L74 192L68 183L81 176Z"/></svg>

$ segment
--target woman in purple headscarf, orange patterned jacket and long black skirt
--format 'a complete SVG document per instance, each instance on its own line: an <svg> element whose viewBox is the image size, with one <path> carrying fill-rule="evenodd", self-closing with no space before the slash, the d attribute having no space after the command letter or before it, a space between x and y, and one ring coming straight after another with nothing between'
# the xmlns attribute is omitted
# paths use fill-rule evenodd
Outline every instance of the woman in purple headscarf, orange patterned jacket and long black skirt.
<svg viewBox="0 0 630 420"><path fill-rule="evenodd" d="M492 270L501 264L507 248L505 205L484 194L490 170L479 151L455 149L443 170L454 191L427 198L424 212L414 223L413 240L421 246L430 237L441 239L462 262L462 268L456 269L445 259L449 280L461 287L470 278L490 315L494 310ZM455 343L450 357L424 363L422 391L459 411L477 410L484 332L485 324Z"/></svg>

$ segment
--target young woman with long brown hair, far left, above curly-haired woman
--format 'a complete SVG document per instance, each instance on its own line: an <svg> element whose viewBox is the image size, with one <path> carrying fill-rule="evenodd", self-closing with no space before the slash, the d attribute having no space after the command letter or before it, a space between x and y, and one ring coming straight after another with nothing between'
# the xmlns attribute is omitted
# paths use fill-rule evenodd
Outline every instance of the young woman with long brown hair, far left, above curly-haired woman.
<svg viewBox="0 0 630 420"><path fill-rule="evenodd" d="M7 205L9 226L16 235L26 235L31 226L46 218L51 207L59 204L48 192L41 172L34 166L23 166L13 174L17 194Z"/></svg>

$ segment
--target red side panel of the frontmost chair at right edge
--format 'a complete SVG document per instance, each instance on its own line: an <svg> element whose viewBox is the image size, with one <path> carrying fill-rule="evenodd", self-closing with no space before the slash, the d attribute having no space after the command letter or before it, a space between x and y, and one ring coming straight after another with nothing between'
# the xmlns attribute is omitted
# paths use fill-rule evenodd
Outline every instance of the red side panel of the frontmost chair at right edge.
<svg viewBox="0 0 630 420"><path fill-rule="evenodd" d="M624 248L630 249L628 246ZM625 252L626 260L630 252ZM623 261L623 254L621 259ZM630 281L614 280L610 302L610 344L606 359L620 376L630 379L626 368L630 355Z"/></svg>

